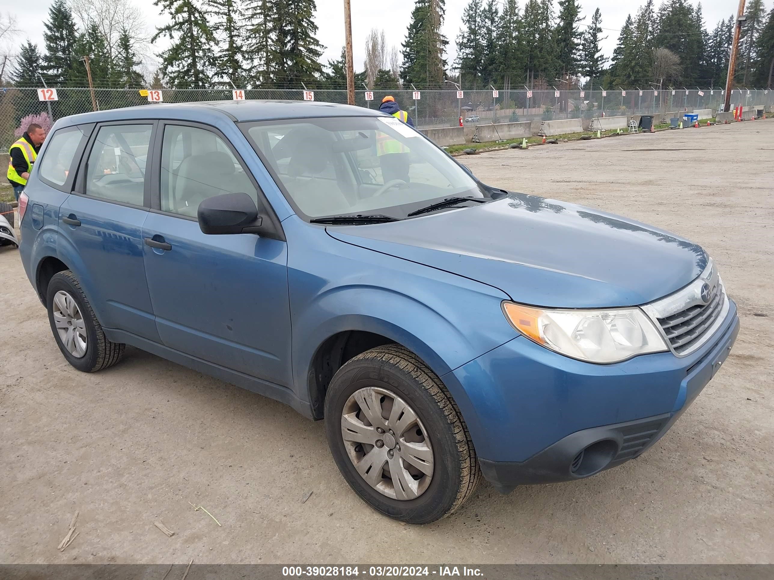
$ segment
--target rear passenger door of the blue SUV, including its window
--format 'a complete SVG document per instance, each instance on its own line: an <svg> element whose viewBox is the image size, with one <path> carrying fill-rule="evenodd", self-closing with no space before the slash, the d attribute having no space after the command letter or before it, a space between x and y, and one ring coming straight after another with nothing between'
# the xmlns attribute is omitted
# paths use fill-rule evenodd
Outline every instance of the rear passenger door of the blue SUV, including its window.
<svg viewBox="0 0 774 580"><path fill-rule="evenodd" d="M102 326L159 342L142 260L148 217L146 161L156 121L98 125L75 189L60 207L60 243L71 244Z"/></svg>

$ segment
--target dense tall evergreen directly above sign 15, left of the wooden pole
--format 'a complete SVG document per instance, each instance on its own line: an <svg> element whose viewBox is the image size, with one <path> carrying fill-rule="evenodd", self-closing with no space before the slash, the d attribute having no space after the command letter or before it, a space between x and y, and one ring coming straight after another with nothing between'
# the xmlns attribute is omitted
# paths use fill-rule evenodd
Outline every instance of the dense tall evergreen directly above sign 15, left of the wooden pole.
<svg viewBox="0 0 774 580"><path fill-rule="evenodd" d="M280 20L276 38L277 76L285 77L289 86L300 87L303 80L313 80L322 73L320 56L324 46L314 36L317 25L314 0L278 0Z"/></svg>

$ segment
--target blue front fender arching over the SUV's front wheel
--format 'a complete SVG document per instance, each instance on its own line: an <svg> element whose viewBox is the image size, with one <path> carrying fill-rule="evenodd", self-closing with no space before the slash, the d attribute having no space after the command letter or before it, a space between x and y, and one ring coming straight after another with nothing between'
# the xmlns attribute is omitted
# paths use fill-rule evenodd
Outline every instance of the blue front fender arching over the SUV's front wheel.
<svg viewBox="0 0 774 580"><path fill-rule="evenodd" d="M317 350L347 330L406 346L439 377L516 336L502 314L502 291L447 271L328 236L297 218L283 222L293 323L293 384L311 401ZM478 420L464 388L447 385L471 434Z"/></svg>

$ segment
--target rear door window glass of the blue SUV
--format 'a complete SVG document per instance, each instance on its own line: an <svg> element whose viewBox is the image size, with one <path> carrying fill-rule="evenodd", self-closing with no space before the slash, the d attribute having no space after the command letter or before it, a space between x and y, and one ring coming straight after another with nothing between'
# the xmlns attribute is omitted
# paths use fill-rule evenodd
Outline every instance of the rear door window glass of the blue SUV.
<svg viewBox="0 0 774 580"><path fill-rule="evenodd" d="M101 127L89 154L86 195L142 206L152 130L152 125Z"/></svg>

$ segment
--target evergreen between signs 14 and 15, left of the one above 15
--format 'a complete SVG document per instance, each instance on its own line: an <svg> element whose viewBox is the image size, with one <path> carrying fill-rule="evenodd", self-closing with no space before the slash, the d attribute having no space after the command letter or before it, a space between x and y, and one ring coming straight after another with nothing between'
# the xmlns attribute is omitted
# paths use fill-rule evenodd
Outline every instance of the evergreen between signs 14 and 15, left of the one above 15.
<svg viewBox="0 0 774 580"><path fill-rule="evenodd" d="M253 86L272 84L279 66L275 39L278 36L276 0L246 0L245 60L249 63L249 80Z"/></svg>

